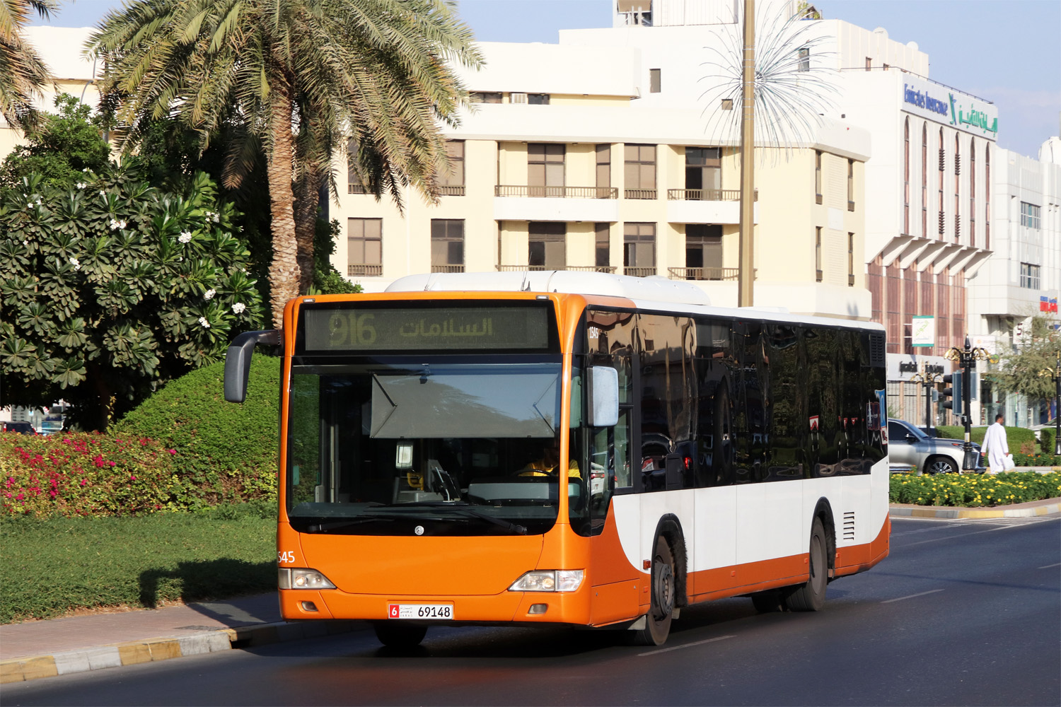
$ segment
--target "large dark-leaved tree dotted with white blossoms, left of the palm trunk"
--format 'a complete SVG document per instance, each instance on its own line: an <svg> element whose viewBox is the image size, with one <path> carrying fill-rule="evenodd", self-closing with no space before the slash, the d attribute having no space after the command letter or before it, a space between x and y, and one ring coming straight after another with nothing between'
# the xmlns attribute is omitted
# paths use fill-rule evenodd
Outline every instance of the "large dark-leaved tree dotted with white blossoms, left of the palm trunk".
<svg viewBox="0 0 1061 707"><path fill-rule="evenodd" d="M137 179L137 161L71 189L31 175L0 191L0 372L6 404L73 404L84 429L261 321L234 212L204 174L187 193Z"/></svg>

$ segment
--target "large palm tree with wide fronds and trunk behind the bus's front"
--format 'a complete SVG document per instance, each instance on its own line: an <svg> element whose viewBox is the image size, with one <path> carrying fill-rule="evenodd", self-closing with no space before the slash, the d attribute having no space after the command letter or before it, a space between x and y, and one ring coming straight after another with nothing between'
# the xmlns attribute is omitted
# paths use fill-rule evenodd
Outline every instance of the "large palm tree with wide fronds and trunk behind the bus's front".
<svg viewBox="0 0 1061 707"><path fill-rule="evenodd" d="M135 0L104 18L88 51L107 61L101 90L128 125L126 145L169 116L198 130L204 148L234 122L229 187L264 153L280 326L299 289L296 198L315 218L312 187L331 180L340 136L358 145L352 165L377 195L400 204L413 185L437 198L439 123L456 125L469 103L448 60L479 66L471 40L442 0ZM312 235L309 247L312 263Z"/></svg>

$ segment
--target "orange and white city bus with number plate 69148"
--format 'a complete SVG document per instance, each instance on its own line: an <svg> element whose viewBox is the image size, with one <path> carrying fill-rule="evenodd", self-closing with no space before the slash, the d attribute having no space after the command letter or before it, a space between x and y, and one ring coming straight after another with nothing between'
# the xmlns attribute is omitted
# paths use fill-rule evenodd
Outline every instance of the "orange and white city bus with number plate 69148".
<svg viewBox="0 0 1061 707"><path fill-rule="evenodd" d="M285 619L566 624L662 644L694 603L817 611L888 554L885 334L692 283L436 273L281 331Z"/></svg>

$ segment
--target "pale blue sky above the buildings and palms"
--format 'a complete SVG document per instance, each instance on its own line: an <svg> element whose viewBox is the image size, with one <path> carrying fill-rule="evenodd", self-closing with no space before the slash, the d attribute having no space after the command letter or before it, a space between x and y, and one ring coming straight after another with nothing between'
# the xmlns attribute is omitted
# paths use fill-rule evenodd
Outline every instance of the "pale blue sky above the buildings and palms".
<svg viewBox="0 0 1061 707"><path fill-rule="evenodd" d="M458 0L482 41L556 42L611 26L614 0ZM119 0L59 0L50 22L94 25ZM932 79L998 106L998 145L1036 157L1061 132L1061 0L812 0L822 17L916 41Z"/></svg>

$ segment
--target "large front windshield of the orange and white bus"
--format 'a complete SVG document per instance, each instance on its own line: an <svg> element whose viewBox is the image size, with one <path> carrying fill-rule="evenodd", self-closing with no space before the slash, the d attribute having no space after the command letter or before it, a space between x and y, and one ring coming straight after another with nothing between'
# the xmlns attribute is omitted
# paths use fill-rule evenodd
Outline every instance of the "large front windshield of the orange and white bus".
<svg viewBox="0 0 1061 707"><path fill-rule="evenodd" d="M292 367L288 514L297 530L537 534L555 524L559 356L454 358Z"/></svg>

